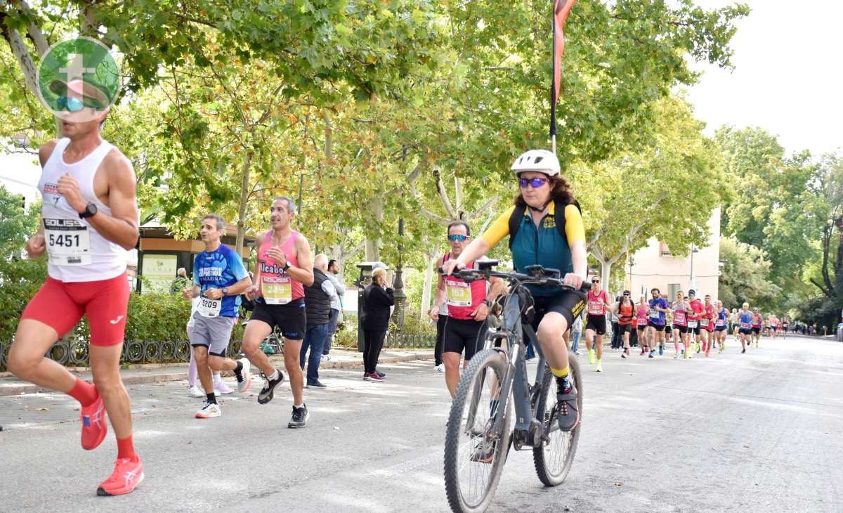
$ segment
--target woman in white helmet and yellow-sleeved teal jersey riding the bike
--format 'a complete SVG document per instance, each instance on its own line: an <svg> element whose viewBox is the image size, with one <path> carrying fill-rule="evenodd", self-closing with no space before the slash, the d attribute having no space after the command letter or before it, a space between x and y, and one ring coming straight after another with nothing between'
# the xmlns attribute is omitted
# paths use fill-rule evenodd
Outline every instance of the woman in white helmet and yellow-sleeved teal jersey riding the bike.
<svg viewBox="0 0 843 513"><path fill-rule="evenodd" d="M526 267L534 264L561 271L565 284L571 289L535 286L529 286L529 289L535 301L533 327L550 372L556 375L559 427L570 431L579 422L579 412L577 390L569 379L568 350L562 334L585 306L585 294L579 292L588 272L583 216L567 182L560 175L559 160L550 151L529 150L515 159L511 169L518 178L515 204L502 213L486 233L472 240L459 258L445 262L443 273L453 273L486 255L507 235L513 267L518 273L526 273ZM560 209L565 222L564 227L557 228ZM517 227L514 234L511 225Z"/></svg>

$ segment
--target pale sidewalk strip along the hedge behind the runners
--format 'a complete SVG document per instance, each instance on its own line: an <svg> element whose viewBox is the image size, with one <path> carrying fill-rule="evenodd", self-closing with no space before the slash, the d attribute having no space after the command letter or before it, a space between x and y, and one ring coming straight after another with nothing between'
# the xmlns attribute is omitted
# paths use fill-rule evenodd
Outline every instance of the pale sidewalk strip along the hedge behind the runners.
<svg viewBox="0 0 843 513"><path fill-rule="evenodd" d="M433 359L432 349L390 349L382 351L379 363L394 364L407 362L416 359ZM331 348L330 360L319 365L319 369L346 369L349 367L362 367L362 353L347 351L338 348ZM273 365L283 369L283 355L272 355L270 361ZM305 368L307 365L305 365ZM87 367L68 367L68 370L77 374L85 381L91 381L91 373ZM256 372L256 371L253 371ZM230 373L228 373L230 374ZM121 370L123 383L126 385L139 385L142 383L157 383L161 381L180 381L187 379L187 364L147 364L131 365ZM13 396L24 393L51 392L41 386L32 385L26 381L20 381L8 372L0 372L0 396Z"/></svg>

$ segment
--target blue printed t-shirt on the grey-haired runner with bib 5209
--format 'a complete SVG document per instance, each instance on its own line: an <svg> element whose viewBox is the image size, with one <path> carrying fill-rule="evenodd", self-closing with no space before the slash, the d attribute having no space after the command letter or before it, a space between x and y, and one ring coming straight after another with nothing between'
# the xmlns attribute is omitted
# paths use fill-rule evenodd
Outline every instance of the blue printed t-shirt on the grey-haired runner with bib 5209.
<svg viewBox="0 0 843 513"><path fill-rule="evenodd" d="M201 289L196 312L205 317L236 317L240 306L239 295L212 300L204 294L207 289L222 290L248 277L243 260L228 246L221 244L217 251L202 251L196 255L193 261L193 283Z"/></svg>

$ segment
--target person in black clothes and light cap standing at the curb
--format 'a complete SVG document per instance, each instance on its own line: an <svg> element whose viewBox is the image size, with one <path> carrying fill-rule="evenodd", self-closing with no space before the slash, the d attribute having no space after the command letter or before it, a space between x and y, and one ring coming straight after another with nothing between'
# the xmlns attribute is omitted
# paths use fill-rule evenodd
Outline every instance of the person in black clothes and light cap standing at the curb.
<svg viewBox="0 0 843 513"><path fill-rule="evenodd" d="M360 325L363 328L363 379L382 381L385 374L379 372L378 359L384 348L384 338L389 327L389 307L395 305L392 289L386 286L386 269L378 268L372 273L372 283L363 290L363 304L360 311Z"/></svg>

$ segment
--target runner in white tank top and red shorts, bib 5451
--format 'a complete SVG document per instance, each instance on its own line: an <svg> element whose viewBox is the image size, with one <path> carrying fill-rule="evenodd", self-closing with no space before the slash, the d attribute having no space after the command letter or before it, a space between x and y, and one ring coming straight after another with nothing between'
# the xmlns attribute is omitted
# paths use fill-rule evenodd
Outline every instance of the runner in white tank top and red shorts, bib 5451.
<svg viewBox="0 0 843 513"><path fill-rule="evenodd" d="M81 81L71 81L67 89L81 94ZM132 445L132 405L120 376L130 292L126 251L137 244L139 213L132 164L99 137L105 116L107 111L94 119L88 116L90 121L63 116L64 137L39 149L42 222L26 251L30 258L48 254L50 276L21 316L9 349L8 370L80 402L84 449L94 449L105 439L108 413L117 439L117 461L97 494L117 495L131 492L143 479L141 460ZM94 385L44 357L83 315L90 325Z"/></svg>

